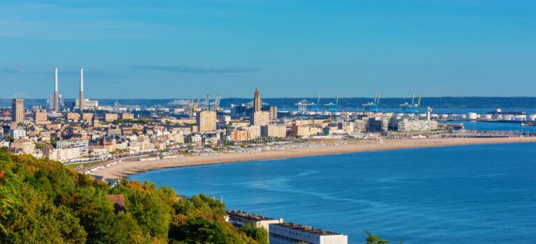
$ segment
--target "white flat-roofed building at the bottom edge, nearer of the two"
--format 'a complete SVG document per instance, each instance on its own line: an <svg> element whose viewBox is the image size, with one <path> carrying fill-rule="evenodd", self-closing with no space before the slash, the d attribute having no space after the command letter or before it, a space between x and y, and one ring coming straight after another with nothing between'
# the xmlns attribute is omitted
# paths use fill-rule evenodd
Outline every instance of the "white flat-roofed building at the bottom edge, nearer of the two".
<svg viewBox="0 0 536 244"><path fill-rule="evenodd" d="M348 236L295 223L269 224L270 244L348 244Z"/></svg>

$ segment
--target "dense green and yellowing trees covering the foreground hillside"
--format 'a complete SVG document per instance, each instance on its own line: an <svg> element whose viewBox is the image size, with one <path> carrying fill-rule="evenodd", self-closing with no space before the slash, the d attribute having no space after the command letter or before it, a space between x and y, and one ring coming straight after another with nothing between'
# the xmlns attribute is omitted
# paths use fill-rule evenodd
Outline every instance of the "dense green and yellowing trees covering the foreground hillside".
<svg viewBox="0 0 536 244"><path fill-rule="evenodd" d="M125 208L108 195L123 195ZM0 243L266 243L266 234L248 229L262 236L255 241L224 216L225 206L204 195L179 200L172 188L137 181L109 188L0 148Z"/></svg>

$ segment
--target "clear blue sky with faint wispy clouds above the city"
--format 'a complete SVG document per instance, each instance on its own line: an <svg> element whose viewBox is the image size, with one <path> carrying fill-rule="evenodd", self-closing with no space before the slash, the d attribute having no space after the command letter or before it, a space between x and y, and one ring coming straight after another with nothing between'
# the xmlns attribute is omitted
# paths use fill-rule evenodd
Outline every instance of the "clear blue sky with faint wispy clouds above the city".
<svg viewBox="0 0 536 244"><path fill-rule="evenodd" d="M0 1L0 98L536 96L536 1Z"/></svg>

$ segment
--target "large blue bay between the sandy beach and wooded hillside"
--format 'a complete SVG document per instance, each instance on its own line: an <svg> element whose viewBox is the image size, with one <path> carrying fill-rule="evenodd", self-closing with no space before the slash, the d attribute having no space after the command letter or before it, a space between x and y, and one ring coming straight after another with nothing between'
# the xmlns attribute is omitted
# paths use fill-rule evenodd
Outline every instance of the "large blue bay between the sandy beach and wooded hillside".
<svg viewBox="0 0 536 244"><path fill-rule="evenodd" d="M419 148L149 171L228 208L404 243L534 243L536 144Z"/></svg>

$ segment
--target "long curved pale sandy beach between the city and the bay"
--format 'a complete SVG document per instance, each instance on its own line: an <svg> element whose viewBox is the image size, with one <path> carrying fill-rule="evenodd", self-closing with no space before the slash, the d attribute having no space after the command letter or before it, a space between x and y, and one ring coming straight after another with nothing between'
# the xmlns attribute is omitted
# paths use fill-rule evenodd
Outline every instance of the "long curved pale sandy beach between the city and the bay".
<svg viewBox="0 0 536 244"><path fill-rule="evenodd" d="M110 167L102 167L91 172L104 178L125 178L151 169L188 167L194 165L211 165L228 162L269 160L277 158L297 158L314 155L337 153L357 153L364 151L385 151L403 148L425 148L438 146L461 146L477 144L505 144L536 142L536 137L509 138L461 138L461 139L384 139L382 143L375 140L349 141L347 144L320 145L314 147L285 148L272 151L252 151L247 153L222 153L220 155L189 155L154 161L123 161Z"/></svg>

